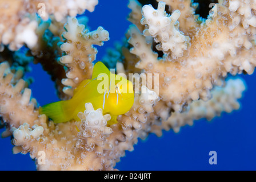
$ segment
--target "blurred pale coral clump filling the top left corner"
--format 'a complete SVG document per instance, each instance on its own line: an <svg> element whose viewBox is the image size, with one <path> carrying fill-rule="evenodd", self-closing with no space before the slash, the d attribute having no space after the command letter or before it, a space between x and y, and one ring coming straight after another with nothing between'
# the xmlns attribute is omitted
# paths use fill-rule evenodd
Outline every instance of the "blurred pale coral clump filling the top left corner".
<svg viewBox="0 0 256 182"><path fill-rule="evenodd" d="M59 22L67 15L76 16L85 10L94 11L97 4L98 0L0 1L0 42L9 44L11 50L21 48L24 43L34 47L37 43L37 22L30 14L39 13L45 20L54 14Z"/></svg>

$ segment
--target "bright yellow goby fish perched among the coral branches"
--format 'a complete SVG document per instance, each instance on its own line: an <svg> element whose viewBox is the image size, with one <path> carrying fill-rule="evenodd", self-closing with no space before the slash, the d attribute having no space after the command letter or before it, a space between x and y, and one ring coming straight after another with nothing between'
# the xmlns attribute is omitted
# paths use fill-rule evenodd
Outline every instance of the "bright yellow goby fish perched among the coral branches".
<svg viewBox="0 0 256 182"><path fill-rule="evenodd" d="M83 80L74 90L74 96L67 101L58 101L42 106L40 114L46 114L55 123L71 119L79 121L77 114L85 110L85 103L93 104L94 109L101 108L104 114L110 114L107 123L117 123L117 116L125 114L134 103L133 84L125 77L115 75L102 63L94 65L91 80Z"/></svg>

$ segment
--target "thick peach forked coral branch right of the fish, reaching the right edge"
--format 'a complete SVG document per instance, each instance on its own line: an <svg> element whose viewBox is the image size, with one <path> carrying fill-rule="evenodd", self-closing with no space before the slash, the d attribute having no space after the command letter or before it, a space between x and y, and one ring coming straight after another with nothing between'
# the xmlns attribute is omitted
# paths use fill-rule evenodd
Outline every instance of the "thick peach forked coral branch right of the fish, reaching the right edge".
<svg viewBox="0 0 256 182"><path fill-rule="evenodd" d="M152 10L149 6L146 9ZM241 26L230 30L226 25L232 22L226 16L220 12L219 16L207 19L191 39L187 50L189 55L183 55L175 62L169 61L168 53L162 59L158 58L151 49L149 39L130 27L129 43L133 46L130 52L140 59L135 67L145 69L146 73L161 73L159 85L162 89L159 94L163 100L171 102L175 111L181 111L182 106L192 100L208 100L209 90L213 85L221 85L222 78L229 72L232 75L243 71L253 73L255 38L251 32L255 30L253 27L245 30ZM206 40L206 37L209 38Z"/></svg>

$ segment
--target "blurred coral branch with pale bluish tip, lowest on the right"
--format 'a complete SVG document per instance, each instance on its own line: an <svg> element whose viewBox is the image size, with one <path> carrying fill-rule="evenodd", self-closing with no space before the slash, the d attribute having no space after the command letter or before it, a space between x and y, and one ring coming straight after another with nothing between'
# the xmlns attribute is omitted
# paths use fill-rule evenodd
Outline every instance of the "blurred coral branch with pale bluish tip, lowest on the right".
<svg viewBox="0 0 256 182"><path fill-rule="evenodd" d="M193 125L194 120L206 118L211 120L220 116L222 112L230 113L240 107L237 99L241 98L245 85L240 79L228 80L225 88L216 87L213 92L213 98L209 101L195 101L183 113L173 113L167 121L161 125L154 125L151 131L158 136L162 135L162 129L168 131L173 129L179 132L182 126Z"/></svg>

